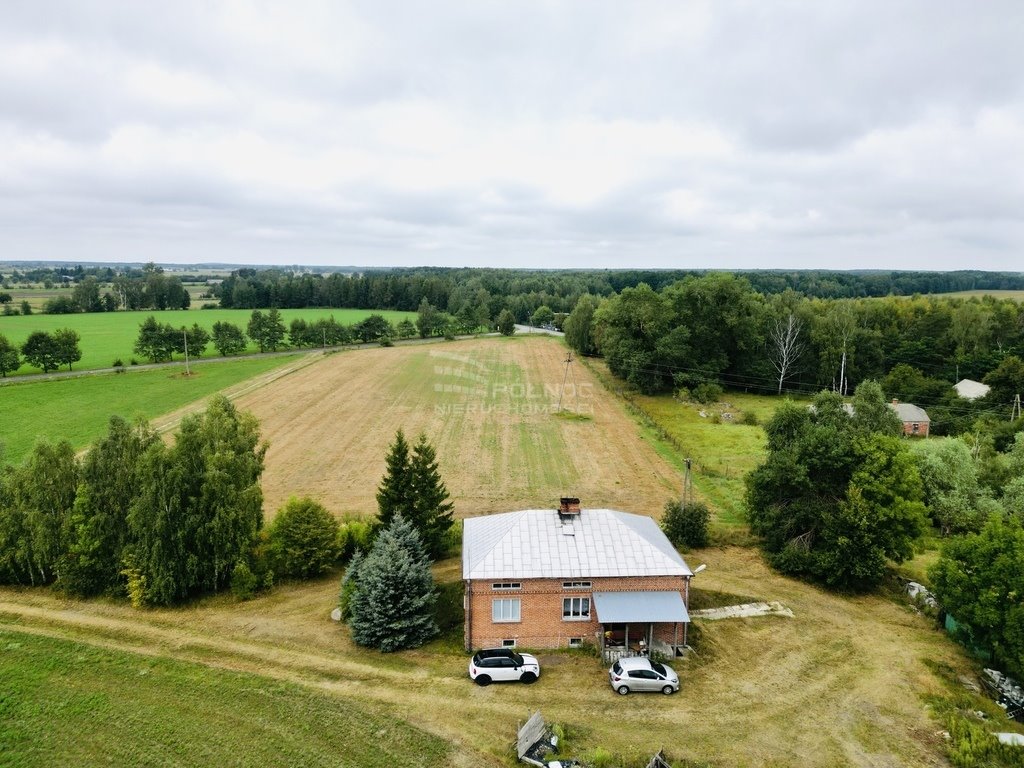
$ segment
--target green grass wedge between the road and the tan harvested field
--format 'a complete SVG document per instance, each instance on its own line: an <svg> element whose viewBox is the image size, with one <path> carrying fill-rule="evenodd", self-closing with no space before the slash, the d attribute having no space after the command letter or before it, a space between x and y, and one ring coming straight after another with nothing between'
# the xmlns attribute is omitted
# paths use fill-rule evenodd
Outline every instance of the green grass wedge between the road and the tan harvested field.
<svg viewBox="0 0 1024 768"><path fill-rule="evenodd" d="M19 463L40 437L84 447L105 432L111 416L152 419L295 359L285 355L207 362L196 366L188 377L175 367L2 386L4 458Z"/></svg>

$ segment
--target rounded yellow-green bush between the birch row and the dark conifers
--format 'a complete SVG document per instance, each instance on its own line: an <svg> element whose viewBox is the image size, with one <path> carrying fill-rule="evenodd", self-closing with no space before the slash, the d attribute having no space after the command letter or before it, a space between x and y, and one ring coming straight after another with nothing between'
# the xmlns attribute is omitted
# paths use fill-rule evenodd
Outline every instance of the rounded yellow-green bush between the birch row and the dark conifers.
<svg viewBox="0 0 1024 768"><path fill-rule="evenodd" d="M338 561L338 521L312 499L289 499L267 530L267 557L278 575L324 573Z"/></svg>

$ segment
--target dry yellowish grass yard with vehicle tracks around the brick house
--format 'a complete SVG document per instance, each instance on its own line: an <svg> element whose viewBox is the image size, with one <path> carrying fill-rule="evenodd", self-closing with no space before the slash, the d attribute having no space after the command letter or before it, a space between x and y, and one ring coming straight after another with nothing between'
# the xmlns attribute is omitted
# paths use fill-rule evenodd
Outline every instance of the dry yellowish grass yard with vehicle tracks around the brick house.
<svg viewBox="0 0 1024 768"><path fill-rule="evenodd" d="M884 597L843 598L780 578L752 550L707 549L688 559L708 564L695 588L779 600L795 617L697 623L697 653L677 663L683 687L671 697L618 696L604 665L581 652L541 651L544 672L534 686L479 688L453 638L388 655L358 648L328 616L336 578L285 585L246 603L221 596L145 611L0 589L0 629L15 638L0 648L14 664L28 663L35 651L12 646L19 635L41 634L81 643L85 657L94 647L135 654L139 669L164 658L259 675L266 682L252 682L257 690L298 683L339 706L387 708L453 742L454 766L514 765L515 728L538 709L565 725L575 755L603 748L638 761L664 746L674 759L714 766L945 764L940 726L923 696L947 690L930 663L955 674L971 667L928 620ZM444 561L436 577L458 581L459 568L457 559ZM210 675L220 685L219 673ZM58 676L49 683L59 684ZM76 687L89 685L87 678ZM267 695L268 708L273 700ZM248 727L223 721L225 737ZM97 743L118 736L114 726L93 733ZM271 749L289 731L263 736ZM352 749L359 745L353 739Z"/></svg>

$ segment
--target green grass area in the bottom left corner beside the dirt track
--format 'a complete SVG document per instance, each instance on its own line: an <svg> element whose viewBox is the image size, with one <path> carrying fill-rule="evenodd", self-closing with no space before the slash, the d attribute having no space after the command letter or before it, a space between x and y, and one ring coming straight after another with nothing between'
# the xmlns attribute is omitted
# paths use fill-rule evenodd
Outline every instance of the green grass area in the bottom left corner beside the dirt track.
<svg viewBox="0 0 1024 768"><path fill-rule="evenodd" d="M441 766L385 711L251 674L0 631L0 765Z"/></svg>

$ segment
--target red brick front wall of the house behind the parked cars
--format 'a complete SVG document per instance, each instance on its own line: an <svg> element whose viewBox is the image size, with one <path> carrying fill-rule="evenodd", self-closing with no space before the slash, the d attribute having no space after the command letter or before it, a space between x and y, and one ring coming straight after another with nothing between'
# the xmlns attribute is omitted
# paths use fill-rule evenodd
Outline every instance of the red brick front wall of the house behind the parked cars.
<svg viewBox="0 0 1024 768"><path fill-rule="evenodd" d="M518 581L519 590L495 590L492 585L498 581ZM563 589L562 582L589 581L590 589ZM570 638L583 638L585 642L598 644L600 625L594 607L595 592L638 592L643 590L679 590L683 602L689 605L688 580L682 577L637 577L615 579L524 579L473 581L467 586L466 605L466 647L487 648L502 644L503 640L515 640L526 648L566 647ZM591 598L590 620L566 621L562 618L562 598ZM492 601L501 598L519 598L519 622L492 621ZM673 626L659 626L657 636L666 642L673 642ZM682 642L682 627L679 641Z"/></svg>

